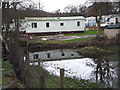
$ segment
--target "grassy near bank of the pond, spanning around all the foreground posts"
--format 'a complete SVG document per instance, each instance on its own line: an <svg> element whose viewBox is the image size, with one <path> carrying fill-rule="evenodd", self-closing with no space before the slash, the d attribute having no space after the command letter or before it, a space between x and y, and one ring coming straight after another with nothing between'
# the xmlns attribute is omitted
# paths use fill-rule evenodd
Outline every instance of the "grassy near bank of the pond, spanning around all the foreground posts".
<svg viewBox="0 0 120 90"><path fill-rule="evenodd" d="M35 70L35 71L40 70L38 69L38 66L31 66L31 67L32 67L32 70ZM41 72L45 76L45 88L60 88L60 77L59 76L50 74L48 71L42 68L41 68ZM38 74L35 74L35 72L34 72L34 75L36 75L33 78L34 85L36 85L36 87L39 87L40 85L39 79L38 79L39 76L37 76ZM100 84L90 82L84 79L78 80L76 78L64 77L64 87L65 88L99 88Z"/></svg>

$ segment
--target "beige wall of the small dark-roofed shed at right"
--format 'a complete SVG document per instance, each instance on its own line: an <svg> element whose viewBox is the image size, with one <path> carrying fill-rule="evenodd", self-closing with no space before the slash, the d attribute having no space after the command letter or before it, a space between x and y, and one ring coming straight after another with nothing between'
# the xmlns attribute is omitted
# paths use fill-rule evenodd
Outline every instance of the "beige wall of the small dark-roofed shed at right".
<svg viewBox="0 0 120 90"><path fill-rule="evenodd" d="M120 29L104 29L104 35L108 39L116 38L117 34L120 34Z"/></svg>

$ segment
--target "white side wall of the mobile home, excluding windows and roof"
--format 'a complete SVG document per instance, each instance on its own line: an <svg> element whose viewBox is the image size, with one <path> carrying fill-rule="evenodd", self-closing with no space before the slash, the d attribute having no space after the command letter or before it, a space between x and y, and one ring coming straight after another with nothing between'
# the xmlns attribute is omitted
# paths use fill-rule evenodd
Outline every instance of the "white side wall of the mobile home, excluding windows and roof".
<svg viewBox="0 0 120 90"><path fill-rule="evenodd" d="M37 28L32 28L32 23L37 23ZM46 27L49 22L49 27ZM77 26L80 22L80 26ZM66 21L29 21L26 33L43 33L43 32L65 32L65 31L84 31L85 20L66 20ZM64 23L64 26L60 26Z"/></svg>

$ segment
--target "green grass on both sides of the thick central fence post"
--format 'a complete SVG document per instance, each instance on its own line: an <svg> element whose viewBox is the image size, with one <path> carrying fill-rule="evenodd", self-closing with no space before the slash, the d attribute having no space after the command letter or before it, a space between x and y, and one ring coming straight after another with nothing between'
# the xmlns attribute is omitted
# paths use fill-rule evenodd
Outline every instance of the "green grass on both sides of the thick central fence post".
<svg viewBox="0 0 120 90"><path fill-rule="evenodd" d="M45 83L46 83L46 86L49 88L60 88L60 77L48 73ZM64 87L69 88L68 85L72 88L99 87L97 83L92 83L92 82L89 82L88 80L83 80L83 79L77 80L75 78L64 77Z"/></svg>

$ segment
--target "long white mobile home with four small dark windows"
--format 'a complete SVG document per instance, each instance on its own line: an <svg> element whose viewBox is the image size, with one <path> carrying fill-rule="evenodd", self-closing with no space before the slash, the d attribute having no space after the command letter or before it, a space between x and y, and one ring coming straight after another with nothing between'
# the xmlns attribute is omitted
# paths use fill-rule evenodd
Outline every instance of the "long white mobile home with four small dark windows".
<svg viewBox="0 0 120 90"><path fill-rule="evenodd" d="M74 17L26 17L26 33L56 34L83 32L85 18Z"/></svg>

